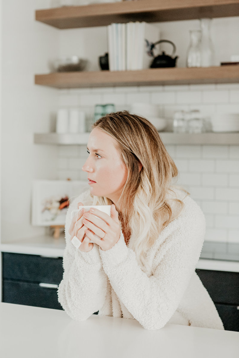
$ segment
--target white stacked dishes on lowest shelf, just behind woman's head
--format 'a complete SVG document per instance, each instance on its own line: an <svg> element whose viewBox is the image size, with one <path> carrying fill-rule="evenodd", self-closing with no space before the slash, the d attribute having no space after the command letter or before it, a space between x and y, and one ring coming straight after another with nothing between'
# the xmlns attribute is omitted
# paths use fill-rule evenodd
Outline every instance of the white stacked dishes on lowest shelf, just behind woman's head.
<svg viewBox="0 0 239 358"><path fill-rule="evenodd" d="M132 103L130 112L146 118L157 131L162 131L167 126L165 118L158 116L158 106L150 103Z"/></svg>

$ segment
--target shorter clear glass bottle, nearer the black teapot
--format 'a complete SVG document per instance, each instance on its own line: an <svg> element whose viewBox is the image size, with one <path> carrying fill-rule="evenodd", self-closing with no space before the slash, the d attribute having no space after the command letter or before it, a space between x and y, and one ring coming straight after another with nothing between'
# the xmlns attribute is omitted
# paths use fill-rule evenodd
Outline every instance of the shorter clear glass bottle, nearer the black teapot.
<svg viewBox="0 0 239 358"><path fill-rule="evenodd" d="M201 30L190 30L190 44L187 50L187 67L201 66Z"/></svg>

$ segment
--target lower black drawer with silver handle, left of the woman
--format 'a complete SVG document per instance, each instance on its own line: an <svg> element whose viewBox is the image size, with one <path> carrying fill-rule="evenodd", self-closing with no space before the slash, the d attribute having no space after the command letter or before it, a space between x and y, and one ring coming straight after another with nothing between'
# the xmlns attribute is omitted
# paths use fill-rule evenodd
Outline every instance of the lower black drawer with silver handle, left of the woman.
<svg viewBox="0 0 239 358"><path fill-rule="evenodd" d="M57 288L41 287L33 282L4 280L3 302L62 309L57 299Z"/></svg>

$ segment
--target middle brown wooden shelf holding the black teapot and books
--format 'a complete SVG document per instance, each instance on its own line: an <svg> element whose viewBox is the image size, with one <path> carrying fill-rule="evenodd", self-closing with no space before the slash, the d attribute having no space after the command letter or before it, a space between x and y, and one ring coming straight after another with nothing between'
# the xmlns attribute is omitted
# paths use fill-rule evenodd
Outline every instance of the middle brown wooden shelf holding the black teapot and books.
<svg viewBox="0 0 239 358"><path fill-rule="evenodd" d="M55 88L233 82L239 82L239 65L197 68L149 68L140 71L57 72L35 75L35 84Z"/></svg>

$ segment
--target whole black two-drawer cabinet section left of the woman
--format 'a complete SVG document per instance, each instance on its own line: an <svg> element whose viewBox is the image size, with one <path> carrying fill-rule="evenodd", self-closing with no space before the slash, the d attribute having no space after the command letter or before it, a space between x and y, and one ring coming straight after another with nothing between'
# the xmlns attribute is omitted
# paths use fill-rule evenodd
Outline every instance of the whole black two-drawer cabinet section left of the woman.
<svg viewBox="0 0 239 358"><path fill-rule="evenodd" d="M62 261L62 257L2 252L3 302L62 310L57 296Z"/></svg>

